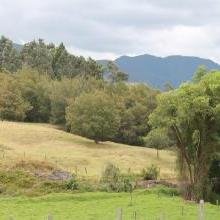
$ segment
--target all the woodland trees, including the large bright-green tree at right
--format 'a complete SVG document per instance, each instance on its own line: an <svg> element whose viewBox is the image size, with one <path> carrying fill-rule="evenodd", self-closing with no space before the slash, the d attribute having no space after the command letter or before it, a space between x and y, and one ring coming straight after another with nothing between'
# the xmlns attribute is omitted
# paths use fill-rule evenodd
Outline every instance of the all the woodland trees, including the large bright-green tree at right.
<svg viewBox="0 0 220 220"><path fill-rule="evenodd" d="M213 165L220 150L220 72L200 67L191 82L158 91L127 82L114 63L106 70L43 40L16 50L0 39L0 117L50 122L101 141L172 147L186 198L220 191ZM214 167L213 167L214 166Z"/></svg>

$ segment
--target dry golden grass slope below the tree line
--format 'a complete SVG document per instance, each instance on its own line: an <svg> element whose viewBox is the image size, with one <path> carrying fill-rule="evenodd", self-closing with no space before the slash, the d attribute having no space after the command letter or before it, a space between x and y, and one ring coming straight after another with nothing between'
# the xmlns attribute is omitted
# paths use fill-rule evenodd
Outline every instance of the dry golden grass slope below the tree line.
<svg viewBox="0 0 220 220"><path fill-rule="evenodd" d="M161 150L112 142L95 144L92 140L73 135L49 124L0 122L0 162L12 165L21 159L54 163L80 175L98 176L112 162L124 172L138 173L156 164L161 177L175 176L175 154ZM87 170L87 174L86 174Z"/></svg>

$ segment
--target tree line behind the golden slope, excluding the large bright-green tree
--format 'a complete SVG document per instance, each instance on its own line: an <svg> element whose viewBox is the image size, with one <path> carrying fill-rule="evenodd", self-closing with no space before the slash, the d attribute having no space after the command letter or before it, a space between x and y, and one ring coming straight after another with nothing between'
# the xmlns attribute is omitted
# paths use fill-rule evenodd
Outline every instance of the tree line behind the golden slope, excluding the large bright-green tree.
<svg viewBox="0 0 220 220"><path fill-rule="evenodd" d="M69 54L62 43L43 40L17 51L5 37L0 60L2 120L50 122L97 143L144 145L159 91L128 84L128 75L113 62L104 70L91 58Z"/></svg>

